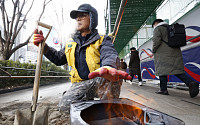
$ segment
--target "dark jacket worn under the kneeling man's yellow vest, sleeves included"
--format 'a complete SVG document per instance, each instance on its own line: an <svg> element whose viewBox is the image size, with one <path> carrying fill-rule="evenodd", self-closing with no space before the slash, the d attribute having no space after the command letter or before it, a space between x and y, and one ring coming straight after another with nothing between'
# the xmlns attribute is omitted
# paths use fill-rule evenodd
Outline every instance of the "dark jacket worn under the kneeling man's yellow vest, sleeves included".
<svg viewBox="0 0 200 125"><path fill-rule="evenodd" d="M73 40L77 42L76 46L76 53L75 53L75 64L76 64L76 69L78 70L79 76L82 79L88 79L88 74L90 73L88 70L88 66L85 60L85 52L86 52L86 47L95 42L96 40L100 39L100 36L95 30L88 40L85 41L81 45L81 39L79 37L79 33L77 32ZM67 63L66 55L65 55L65 48L61 49L60 51L56 51L52 47L46 47L46 53L45 56L54 64L60 66L64 65ZM105 35L104 40L101 44L100 47L100 66L111 66L113 68L119 67L119 58L118 58L118 53L114 49L114 46L112 44L112 40L109 36Z"/></svg>

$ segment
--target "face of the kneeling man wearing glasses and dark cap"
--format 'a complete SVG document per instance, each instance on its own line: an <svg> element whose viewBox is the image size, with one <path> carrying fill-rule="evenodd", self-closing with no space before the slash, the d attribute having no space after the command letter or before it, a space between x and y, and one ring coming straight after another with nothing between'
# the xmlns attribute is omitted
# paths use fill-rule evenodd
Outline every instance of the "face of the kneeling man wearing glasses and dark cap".
<svg viewBox="0 0 200 125"><path fill-rule="evenodd" d="M80 32L88 31L90 26L90 16L88 13L80 12L77 14L77 30Z"/></svg>

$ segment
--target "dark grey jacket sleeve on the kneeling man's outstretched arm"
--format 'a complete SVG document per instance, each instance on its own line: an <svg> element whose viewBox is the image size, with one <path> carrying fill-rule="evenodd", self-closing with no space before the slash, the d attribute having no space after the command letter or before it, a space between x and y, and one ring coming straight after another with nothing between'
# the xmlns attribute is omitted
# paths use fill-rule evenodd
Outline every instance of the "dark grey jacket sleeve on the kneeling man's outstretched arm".
<svg viewBox="0 0 200 125"><path fill-rule="evenodd" d="M100 63L102 66L110 66L118 69L120 67L120 59L118 53L112 44L111 37L105 35L100 48Z"/></svg>

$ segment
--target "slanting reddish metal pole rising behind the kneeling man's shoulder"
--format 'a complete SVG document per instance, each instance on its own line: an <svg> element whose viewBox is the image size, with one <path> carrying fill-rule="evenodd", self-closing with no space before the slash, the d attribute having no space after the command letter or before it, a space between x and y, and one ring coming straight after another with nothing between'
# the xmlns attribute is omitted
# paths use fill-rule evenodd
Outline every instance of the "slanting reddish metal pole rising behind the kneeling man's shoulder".
<svg viewBox="0 0 200 125"><path fill-rule="evenodd" d="M112 36L114 36L112 43L114 43L115 38L117 36L117 32L118 32L118 29L119 29L119 25L120 25L120 22L121 22L127 1L128 0L122 0L121 1L120 8L119 8L119 11L118 11L118 15L117 15L117 18L116 18L116 21L115 21L114 30L113 30L113 33L112 33Z"/></svg>

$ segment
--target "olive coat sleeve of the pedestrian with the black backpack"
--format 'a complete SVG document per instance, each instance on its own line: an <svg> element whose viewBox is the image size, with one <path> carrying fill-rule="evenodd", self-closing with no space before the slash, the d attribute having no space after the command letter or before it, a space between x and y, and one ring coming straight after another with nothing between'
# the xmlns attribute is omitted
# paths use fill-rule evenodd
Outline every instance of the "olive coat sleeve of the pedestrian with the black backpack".
<svg viewBox="0 0 200 125"><path fill-rule="evenodd" d="M158 50L158 48L162 42L162 34L159 31L159 27L154 29L152 41L153 41L152 51L153 51L153 53L156 53L156 51Z"/></svg>

